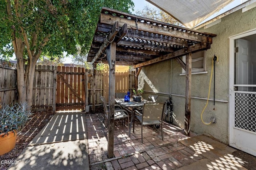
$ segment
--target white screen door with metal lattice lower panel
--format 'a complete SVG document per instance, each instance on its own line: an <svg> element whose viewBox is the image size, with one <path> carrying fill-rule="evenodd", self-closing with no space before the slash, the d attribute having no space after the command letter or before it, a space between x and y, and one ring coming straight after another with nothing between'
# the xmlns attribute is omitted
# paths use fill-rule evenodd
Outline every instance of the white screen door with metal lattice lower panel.
<svg viewBox="0 0 256 170"><path fill-rule="evenodd" d="M230 38L229 144L256 156L256 31Z"/></svg>

